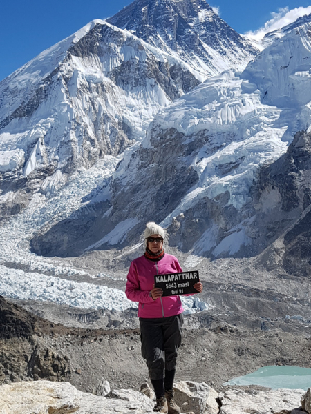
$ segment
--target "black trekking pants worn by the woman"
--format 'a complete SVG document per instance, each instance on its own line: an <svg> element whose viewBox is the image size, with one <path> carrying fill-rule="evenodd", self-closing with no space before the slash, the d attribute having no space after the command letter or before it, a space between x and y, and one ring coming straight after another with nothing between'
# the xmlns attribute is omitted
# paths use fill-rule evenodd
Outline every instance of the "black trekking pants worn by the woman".
<svg viewBox="0 0 311 414"><path fill-rule="evenodd" d="M181 313L159 318L140 317L142 357L146 359L151 380L161 380L165 370L176 369L183 322Z"/></svg>

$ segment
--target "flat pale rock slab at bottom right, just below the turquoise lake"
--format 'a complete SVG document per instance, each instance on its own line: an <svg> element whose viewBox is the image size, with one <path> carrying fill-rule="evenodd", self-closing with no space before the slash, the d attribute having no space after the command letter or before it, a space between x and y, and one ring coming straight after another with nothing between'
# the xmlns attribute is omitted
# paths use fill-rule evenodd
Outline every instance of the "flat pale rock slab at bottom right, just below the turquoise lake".
<svg viewBox="0 0 311 414"><path fill-rule="evenodd" d="M238 388L220 393L220 414L290 414L299 407L303 394L303 390L266 390Z"/></svg>

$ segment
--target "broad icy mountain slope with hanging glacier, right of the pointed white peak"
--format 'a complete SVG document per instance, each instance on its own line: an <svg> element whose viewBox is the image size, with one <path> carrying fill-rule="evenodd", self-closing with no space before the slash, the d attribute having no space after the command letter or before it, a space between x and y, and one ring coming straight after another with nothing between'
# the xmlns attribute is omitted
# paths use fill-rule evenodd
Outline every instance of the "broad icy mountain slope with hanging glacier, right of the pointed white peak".
<svg viewBox="0 0 311 414"><path fill-rule="evenodd" d="M155 219L168 229L171 246L192 255L256 255L272 240L263 213L275 221L279 209L288 225L297 219L305 204L296 215L282 215L281 196L253 199L261 168L285 154L297 131L310 128L309 32L310 23L303 23L243 72L212 77L161 110L142 144L126 150L117 166L104 222L95 219L101 237L73 242L75 248L138 242L145 221ZM73 225L42 231L32 246L61 254L58 241Z"/></svg>

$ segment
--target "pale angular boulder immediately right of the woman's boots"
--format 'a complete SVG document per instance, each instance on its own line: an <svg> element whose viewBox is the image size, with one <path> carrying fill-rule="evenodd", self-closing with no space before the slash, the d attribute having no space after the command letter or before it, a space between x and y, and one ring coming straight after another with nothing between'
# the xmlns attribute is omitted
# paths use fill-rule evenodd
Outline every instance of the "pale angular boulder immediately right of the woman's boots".
<svg viewBox="0 0 311 414"><path fill-rule="evenodd" d="M176 404L184 413L192 410L195 414L217 414L219 411L218 393L205 382L177 382L174 390Z"/></svg>

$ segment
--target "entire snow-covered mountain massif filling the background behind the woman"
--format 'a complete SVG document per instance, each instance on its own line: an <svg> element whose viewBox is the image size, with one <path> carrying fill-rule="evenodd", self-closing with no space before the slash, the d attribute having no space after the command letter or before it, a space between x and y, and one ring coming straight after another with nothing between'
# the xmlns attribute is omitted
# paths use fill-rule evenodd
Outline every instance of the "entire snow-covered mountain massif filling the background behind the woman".
<svg viewBox="0 0 311 414"><path fill-rule="evenodd" d="M294 236L281 253L274 247L311 199L308 165L301 172L311 23L301 23L258 53L203 0L136 0L4 79L3 295L18 295L8 282L17 280L26 299L34 275L39 299L57 300L62 287L50 277L81 282L95 273L60 257L125 246L126 257L137 255L150 219L167 228L185 266L269 246L288 249L280 263L292 263ZM275 165L285 173L277 179L271 167L268 179ZM289 194L298 201L286 204ZM79 288L64 284L64 303L91 306Z"/></svg>

